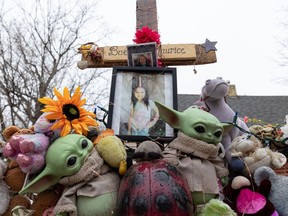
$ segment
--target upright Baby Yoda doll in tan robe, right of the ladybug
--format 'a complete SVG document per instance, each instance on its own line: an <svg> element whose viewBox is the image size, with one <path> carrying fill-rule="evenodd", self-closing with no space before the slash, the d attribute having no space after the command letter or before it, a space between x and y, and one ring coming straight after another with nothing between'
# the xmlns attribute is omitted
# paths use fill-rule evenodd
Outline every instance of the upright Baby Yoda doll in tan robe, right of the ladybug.
<svg viewBox="0 0 288 216"><path fill-rule="evenodd" d="M157 101L155 104L160 117L179 130L169 149L164 150L164 158L186 177L195 205L209 202L219 195L218 180L227 180L229 174L220 141L224 128L230 125L197 107L178 112Z"/></svg>

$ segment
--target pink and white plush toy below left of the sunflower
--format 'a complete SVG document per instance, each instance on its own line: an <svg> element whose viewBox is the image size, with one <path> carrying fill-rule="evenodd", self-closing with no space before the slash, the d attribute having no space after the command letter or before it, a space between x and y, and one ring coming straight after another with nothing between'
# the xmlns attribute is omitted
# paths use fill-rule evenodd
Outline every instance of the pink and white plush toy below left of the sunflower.
<svg viewBox="0 0 288 216"><path fill-rule="evenodd" d="M50 128L54 122L49 122L43 113L31 129L21 129L10 126L4 129L3 136L7 141L3 155L17 161L24 173L34 174L44 167L45 153L55 132Z"/></svg>

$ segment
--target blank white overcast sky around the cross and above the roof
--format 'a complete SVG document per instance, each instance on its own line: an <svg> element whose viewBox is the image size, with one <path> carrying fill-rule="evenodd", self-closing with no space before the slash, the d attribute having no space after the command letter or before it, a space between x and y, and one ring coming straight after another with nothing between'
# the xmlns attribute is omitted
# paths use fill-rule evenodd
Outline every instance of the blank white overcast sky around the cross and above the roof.
<svg viewBox="0 0 288 216"><path fill-rule="evenodd" d="M157 0L162 44L217 41L217 62L177 67L178 93L199 94L206 79L222 77L238 95L288 95L288 67L280 67L278 41L288 39L287 0ZM136 0L101 0L99 11L116 31L106 45L127 45L136 27ZM288 28L288 25L287 25ZM287 40L288 41L288 40ZM283 48L282 48L283 49Z"/></svg>

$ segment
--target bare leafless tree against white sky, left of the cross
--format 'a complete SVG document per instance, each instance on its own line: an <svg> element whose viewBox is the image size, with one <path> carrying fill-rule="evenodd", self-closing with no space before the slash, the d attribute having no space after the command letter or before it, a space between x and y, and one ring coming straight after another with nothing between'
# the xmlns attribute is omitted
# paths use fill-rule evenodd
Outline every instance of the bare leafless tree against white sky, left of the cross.
<svg viewBox="0 0 288 216"><path fill-rule="evenodd" d="M21 2L30 4L29 9ZM98 30L96 23L101 18L95 16L97 2L19 1L10 8L5 5L7 1L0 3L1 131L9 125L33 125L41 115L38 98L53 97L54 87L62 90L67 86L73 92L80 86L87 106L108 98L110 71L81 71L76 67L81 58L77 48ZM94 29L89 32L91 23ZM102 35L97 41L111 33L98 26Z"/></svg>

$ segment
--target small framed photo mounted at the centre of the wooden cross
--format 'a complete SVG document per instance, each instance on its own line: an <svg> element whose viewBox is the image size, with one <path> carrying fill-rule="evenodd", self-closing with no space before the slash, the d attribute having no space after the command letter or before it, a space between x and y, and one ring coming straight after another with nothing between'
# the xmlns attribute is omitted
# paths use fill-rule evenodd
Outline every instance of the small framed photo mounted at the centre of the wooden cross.
<svg viewBox="0 0 288 216"><path fill-rule="evenodd" d="M128 66L157 67L157 44L155 42L127 45Z"/></svg>

